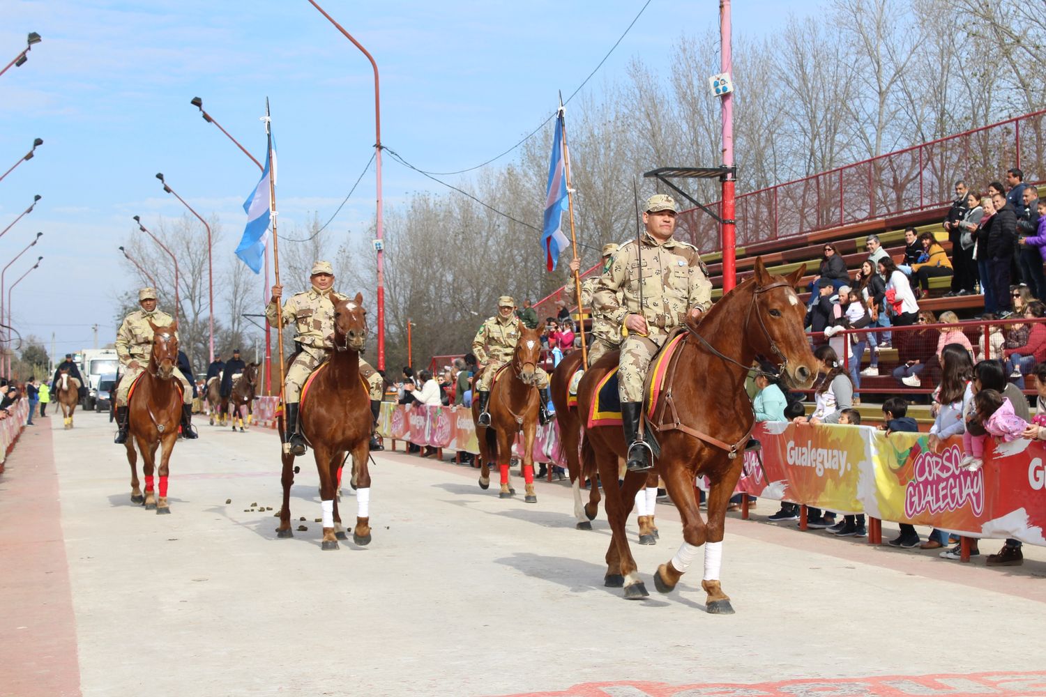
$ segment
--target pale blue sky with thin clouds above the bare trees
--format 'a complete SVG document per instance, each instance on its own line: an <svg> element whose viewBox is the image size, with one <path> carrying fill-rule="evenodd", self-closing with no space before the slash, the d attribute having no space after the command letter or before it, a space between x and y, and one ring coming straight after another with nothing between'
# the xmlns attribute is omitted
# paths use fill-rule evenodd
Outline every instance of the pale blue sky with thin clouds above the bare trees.
<svg viewBox="0 0 1046 697"><path fill-rule="evenodd" d="M446 171L478 164L533 130L556 92L581 84L644 1L320 4L378 62L383 143ZM735 37L786 18L787 3L733 5ZM587 90L598 97L637 55L665 74L680 34L718 26L718 11L717 0L653 0ZM215 269L232 255L257 169L203 121L191 97L258 159L258 117L270 98L283 228L314 212L326 220L372 153L370 65L305 0L4 0L0 65L29 31L43 42L0 76L0 172L33 138L45 143L0 182L0 229L35 193L43 199L0 238L0 266L44 233L6 283L39 250L44 261L18 286L14 319L48 349L52 331L60 352L90 347L94 323L99 343L112 341L116 297L135 284L116 249L135 230L131 216L149 226L184 212L157 171L202 214L221 218ZM383 173L389 203L445 191L391 158ZM364 234L373 211L371 171L332 227L339 237ZM260 279L258 288L260 297Z"/></svg>

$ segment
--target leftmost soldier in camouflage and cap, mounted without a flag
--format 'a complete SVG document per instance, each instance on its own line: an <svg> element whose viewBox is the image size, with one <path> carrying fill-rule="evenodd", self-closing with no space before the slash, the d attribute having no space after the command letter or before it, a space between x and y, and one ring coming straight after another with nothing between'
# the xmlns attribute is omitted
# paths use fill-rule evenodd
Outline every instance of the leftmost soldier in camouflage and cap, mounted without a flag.
<svg viewBox="0 0 1046 697"><path fill-rule="evenodd" d="M149 365L149 356L153 351L153 327L169 326L175 318L156 309L156 291L142 288L138 291L138 304L141 309L135 310L123 319L116 332L116 354L123 367L123 377L116 390L116 425L119 433L113 441L117 444L128 440L128 393L135 378ZM177 338L177 333L175 334ZM182 384L182 438L199 438L192 427L192 385L175 368L175 377Z"/></svg>

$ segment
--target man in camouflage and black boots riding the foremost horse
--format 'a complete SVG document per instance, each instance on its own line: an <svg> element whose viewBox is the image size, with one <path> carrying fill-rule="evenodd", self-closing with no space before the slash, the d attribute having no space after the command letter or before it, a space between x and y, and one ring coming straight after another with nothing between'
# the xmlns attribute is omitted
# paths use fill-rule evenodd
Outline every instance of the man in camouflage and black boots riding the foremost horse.
<svg viewBox="0 0 1046 697"><path fill-rule="evenodd" d="M626 464L632 471L654 466L650 446L638 439L651 358L672 329L698 322L712 305L712 284L698 249L673 239L673 198L658 193L647 199L643 224L646 230L641 239L626 242L614 254L599 278L593 302L597 311L621 327L618 394L624 442L629 443Z"/></svg>

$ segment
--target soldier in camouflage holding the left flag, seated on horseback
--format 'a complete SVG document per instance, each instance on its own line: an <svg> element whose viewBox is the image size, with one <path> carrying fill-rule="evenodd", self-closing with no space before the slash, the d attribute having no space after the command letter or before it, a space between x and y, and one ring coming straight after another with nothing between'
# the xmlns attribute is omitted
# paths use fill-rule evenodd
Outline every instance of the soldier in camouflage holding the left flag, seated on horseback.
<svg viewBox="0 0 1046 697"><path fill-rule="evenodd" d="M291 365L283 377L287 432L291 454L294 456L305 454L305 439L298 423L301 388L304 387L309 375L326 361L334 350L334 306L337 302L348 300L346 296L333 291L334 269L329 261L314 263L309 280L312 283L311 289L296 293L283 303L283 324L294 324L294 341L298 345L298 350L291 356ZM272 286L272 299L265 308L266 320L272 327L277 326L276 307L282 294L282 285ZM228 366L225 372L226 375L229 374ZM384 390L382 376L362 357L360 375L367 381L372 394L379 389ZM370 444L373 449L379 449L372 435Z"/></svg>

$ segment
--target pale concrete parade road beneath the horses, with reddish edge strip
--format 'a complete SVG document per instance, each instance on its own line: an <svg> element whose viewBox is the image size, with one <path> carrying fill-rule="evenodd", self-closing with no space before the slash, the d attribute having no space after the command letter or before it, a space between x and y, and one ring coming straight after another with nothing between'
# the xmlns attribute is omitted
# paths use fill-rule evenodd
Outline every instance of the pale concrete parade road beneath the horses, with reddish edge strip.
<svg viewBox="0 0 1046 697"><path fill-rule="evenodd" d="M273 432L204 420L159 516L131 504L107 418L39 423L0 477L2 695L1046 695L1043 550L961 565L768 525L760 502L727 522L737 613L714 617L700 560L654 590L670 506L660 543L633 545L652 597L629 602L602 586L601 511L575 531L564 484L501 501L469 467L379 454L373 541L321 552L310 456L308 530L276 538Z"/></svg>

